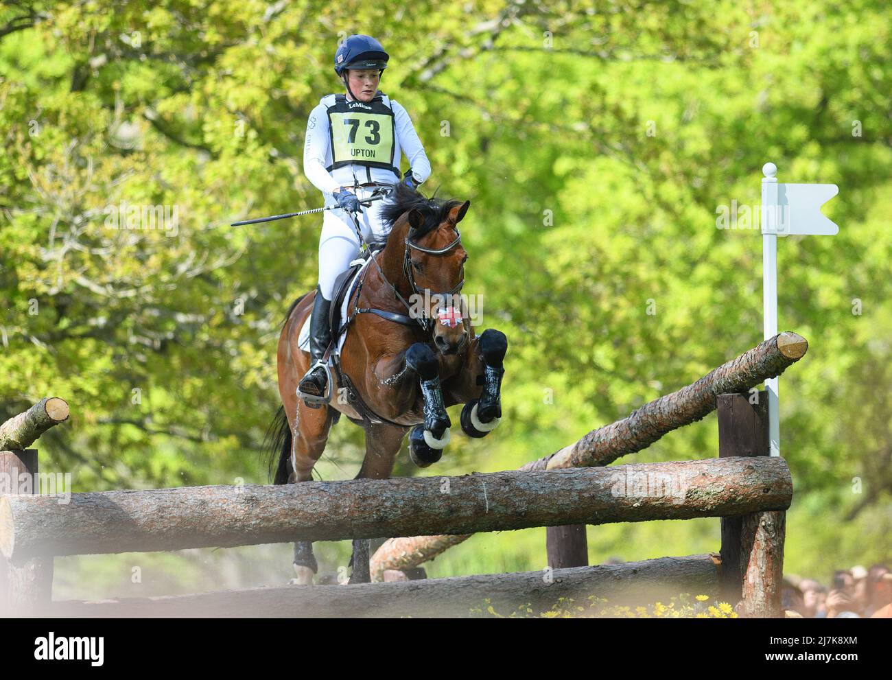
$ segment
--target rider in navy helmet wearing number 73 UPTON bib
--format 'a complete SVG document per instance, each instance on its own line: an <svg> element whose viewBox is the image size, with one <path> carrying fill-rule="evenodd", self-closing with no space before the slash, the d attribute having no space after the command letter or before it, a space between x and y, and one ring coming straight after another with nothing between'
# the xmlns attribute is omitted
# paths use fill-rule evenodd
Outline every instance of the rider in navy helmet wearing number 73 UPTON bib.
<svg viewBox="0 0 892 680"><path fill-rule="evenodd" d="M327 205L319 238L319 280L310 321L310 369L297 388L298 396L326 394L327 371L322 361L331 342L329 309L335 279L359 255L359 237L350 212L356 215L367 243L382 242L390 231L381 217L383 201L365 210L359 201L378 187L401 179L401 153L409 159L402 179L415 188L431 174L424 146L409 113L377 89L390 57L374 37L347 37L335 52L335 73L346 94L326 95L310 112L303 172Z"/></svg>

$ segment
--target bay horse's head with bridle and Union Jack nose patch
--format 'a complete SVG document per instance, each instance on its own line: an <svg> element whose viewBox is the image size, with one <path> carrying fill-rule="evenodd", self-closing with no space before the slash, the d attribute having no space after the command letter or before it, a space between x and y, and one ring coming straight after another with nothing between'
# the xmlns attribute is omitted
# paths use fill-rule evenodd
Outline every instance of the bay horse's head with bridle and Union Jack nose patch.
<svg viewBox="0 0 892 680"><path fill-rule="evenodd" d="M461 287L465 282L467 251L461 245L458 222L470 201L425 198L399 185L392 204L384 208L392 220L391 236L401 246L402 277L408 284L410 312L425 319L437 349L456 354L469 337L466 305ZM404 218L404 220L403 220Z"/></svg>

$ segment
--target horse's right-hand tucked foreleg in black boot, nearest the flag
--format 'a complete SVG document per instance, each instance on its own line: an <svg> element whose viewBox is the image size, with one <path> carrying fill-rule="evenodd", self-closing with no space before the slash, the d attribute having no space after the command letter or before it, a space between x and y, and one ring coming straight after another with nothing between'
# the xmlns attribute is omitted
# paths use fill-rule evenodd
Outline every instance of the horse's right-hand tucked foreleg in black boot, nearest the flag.
<svg viewBox="0 0 892 680"><path fill-rule="evenodd" d="M500 330L487 328L471 341L465 365L450 380L447 395L450 403L465 403L461 428L468 436L483 437L499 426L506 352L508 337Z"/></svg>

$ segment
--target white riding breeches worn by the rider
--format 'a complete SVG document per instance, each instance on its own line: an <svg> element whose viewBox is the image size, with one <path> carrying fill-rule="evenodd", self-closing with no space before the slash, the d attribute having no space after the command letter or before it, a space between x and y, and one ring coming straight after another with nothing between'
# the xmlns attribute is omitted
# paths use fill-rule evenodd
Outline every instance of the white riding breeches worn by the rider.
<svg viewBox="0 0 892 680"><path fill-rule="evenodd" d="M375 187L356 187L353 191L361 201L372 195ZM367 207L362 206L356 216L362 237L366 243L383 241L390 233L390 227L384 224L381 209L386 199L374 201ZM322 296L331 300L335 296L335 279L347 270L351 261L359 256L359 238L356 226L350 215L335 208L325 211L322 218L322 234L319 236L319 286Z"/></svg>

